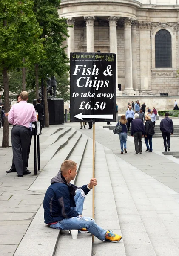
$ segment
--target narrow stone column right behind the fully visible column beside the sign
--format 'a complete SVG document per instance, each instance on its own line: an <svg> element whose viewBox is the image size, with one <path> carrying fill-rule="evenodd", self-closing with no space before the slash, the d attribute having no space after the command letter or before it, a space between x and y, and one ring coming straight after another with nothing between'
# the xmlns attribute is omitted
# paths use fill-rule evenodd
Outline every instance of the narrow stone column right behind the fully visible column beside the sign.
<svg viewBox="0 0 179 256"><path fill-rule="evenodd" d="M132 82L133 88L138 89L137 83L137 50L136 50L136 28L138 22L132 21Z"/></svg>

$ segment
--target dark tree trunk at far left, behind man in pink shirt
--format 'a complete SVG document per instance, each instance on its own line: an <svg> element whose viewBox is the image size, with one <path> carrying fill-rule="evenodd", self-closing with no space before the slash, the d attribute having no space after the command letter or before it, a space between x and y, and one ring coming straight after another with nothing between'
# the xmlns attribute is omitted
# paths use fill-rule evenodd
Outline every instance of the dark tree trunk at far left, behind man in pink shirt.
<svg viewBox="0 0 179 256"><path fill-rule="evenodd" d="M9 81L8 74L6 68L3 69L3 87L4 87L4 110L5 112L9 112ZM9 147L9 122L7 118L4 118L4 126L3 126L3 141L2 147Z"/></svg>

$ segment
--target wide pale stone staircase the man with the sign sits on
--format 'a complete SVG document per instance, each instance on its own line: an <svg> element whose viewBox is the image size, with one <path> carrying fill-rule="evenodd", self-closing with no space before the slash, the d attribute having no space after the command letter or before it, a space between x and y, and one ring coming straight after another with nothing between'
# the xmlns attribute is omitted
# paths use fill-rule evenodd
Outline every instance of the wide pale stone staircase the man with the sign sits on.
<svg viewBox="0 0 179 256"><path fill-rule="evenodd" d="M92 139L66 126L49 134L47 140L43 144L49 141L51 144L42 157L48 158L49 162L29 191L45 193L51 178L57 175L66 159L78 163L73 182L77 186L88 183L92 177ZM14 256L179 255L177 192L97 142L95 177L98 181L95 187L95 221L106 230L122 234L123 239L119 243L102 242L96 238L92 243L91 234L78 234L77 240L73 240L68 231L60 233L44 224L43 204L40 204ZM85 200L83 215L92 216L92 192Z"/></svg>

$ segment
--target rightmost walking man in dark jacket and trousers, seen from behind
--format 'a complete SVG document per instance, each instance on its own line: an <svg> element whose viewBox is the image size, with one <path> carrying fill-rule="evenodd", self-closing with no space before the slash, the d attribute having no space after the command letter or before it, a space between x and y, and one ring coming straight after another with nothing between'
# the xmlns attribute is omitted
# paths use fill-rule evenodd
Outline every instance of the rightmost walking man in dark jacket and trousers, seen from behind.
<svg viewBox="0 0 179 256"><path fill-rule="evenodd" d="M170 135L173 135L173 121L169 118L168 112L165 113L165 118L160 122L160 131L162 131L164 151L170 151Z"/></svg>

